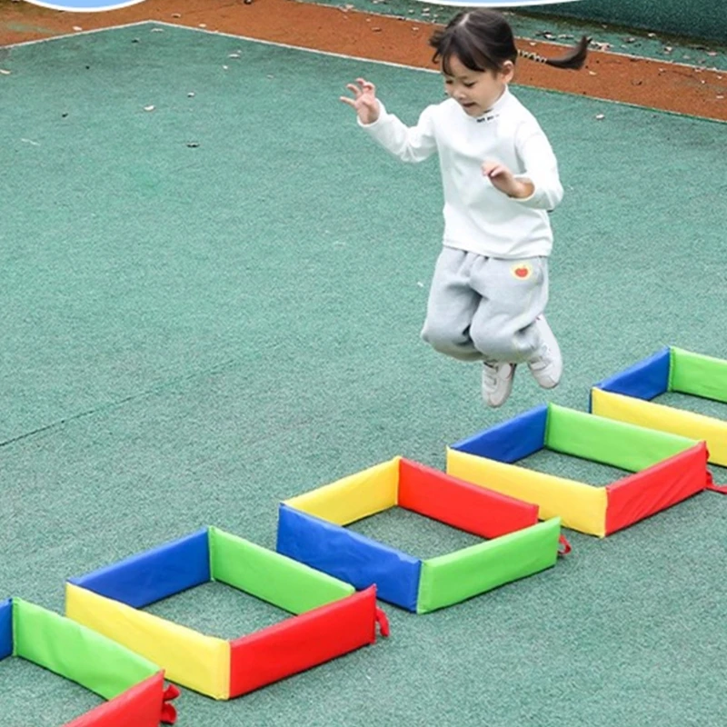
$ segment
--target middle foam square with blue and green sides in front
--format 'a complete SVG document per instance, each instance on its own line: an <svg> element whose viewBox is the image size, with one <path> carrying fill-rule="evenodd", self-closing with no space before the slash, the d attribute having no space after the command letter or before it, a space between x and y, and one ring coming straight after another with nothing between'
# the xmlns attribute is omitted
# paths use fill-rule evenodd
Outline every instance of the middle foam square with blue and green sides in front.
<svg viewBox="0 0 727 727"><path fill-rule="evenodd" d="M395 506L489 540L420 560L344 527ZM557 517L394 457L281 503L277 550L424 613L553 566L560 542Z"/></svg>

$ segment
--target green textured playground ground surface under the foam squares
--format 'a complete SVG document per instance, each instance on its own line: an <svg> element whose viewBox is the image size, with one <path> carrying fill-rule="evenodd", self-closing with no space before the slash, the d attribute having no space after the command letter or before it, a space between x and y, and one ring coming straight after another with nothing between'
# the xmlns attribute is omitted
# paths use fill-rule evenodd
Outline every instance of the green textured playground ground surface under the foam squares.
<svg viewBox="0 0 727 727"><path fill-rule="evenodd" d="M65 578L205 525L274 547L284 498L396 454L441 469L447 444L527 408L585 410L664 344L727 356L727 125L514 89L561 165L549 320L566 369L546 393L523 368L492 411L476 366L419 340L437 164L389 158L337 100L364 75L413 123L437 75L154 27L4 61L0 597L62 612ZM178 724L721 726L726 503L567 532L547 572L425 616L384 606L374 646L232 702L184 690ZM424 518L360 527L461 544ZM276 618L248 605L203 588L154 608L222 634ZM0 662L3 723L98 703L52 675L29 701L18 662Z"/></svg>

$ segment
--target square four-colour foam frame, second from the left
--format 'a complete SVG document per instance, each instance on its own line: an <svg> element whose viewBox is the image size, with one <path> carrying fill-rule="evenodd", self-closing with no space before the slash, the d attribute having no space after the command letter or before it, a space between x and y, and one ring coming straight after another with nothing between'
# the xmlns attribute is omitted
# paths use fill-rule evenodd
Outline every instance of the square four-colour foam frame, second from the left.
<svg viewBox="0 0 727 727"><path fill-rule="evenodd" d="M210 581L294 614L234 641L154 614L151 603ZM66 614L164 667L168 679L230 699L388 634L375 588L348 583L210 527L66 583Z"/></svg>

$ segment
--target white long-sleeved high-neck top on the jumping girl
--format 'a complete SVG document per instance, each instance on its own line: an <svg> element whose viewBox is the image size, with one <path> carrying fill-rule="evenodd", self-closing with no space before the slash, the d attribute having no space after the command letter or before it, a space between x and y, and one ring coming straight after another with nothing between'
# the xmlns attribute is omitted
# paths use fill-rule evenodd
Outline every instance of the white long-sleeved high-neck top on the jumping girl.
<svg viewBox="0 0 727 727"><path fill-rule="evenodd" d="M506 259L551 253L548 210L563 199L558 163L540 124L509 90L478 118L450 98L425 108L411 128L379 105L379 118L359 125L385 149L404 162L439 154L445 246ZM529 179L533 194L514 199L500 192L483 176L485 160Z"/></svg>

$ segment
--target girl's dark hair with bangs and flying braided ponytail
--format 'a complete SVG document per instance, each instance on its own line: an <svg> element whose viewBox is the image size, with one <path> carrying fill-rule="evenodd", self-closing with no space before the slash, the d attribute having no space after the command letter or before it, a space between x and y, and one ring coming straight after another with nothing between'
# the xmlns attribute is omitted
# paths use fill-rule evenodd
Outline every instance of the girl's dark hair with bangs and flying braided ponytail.
<svg viewBox="0 0 727 727"><path fill-rule="evenodd" d="M515 62L518 55L556 68L582 68L588 55L590 38L583 35L573 50L558 58L545 58L515 47L513 28L503 15L493 10L464 10L455 15L443 30L429 40L434 48L433 61L451 75L450 61L455 55L473 71L501 71L505 61Z"/></svg>

